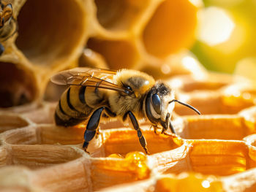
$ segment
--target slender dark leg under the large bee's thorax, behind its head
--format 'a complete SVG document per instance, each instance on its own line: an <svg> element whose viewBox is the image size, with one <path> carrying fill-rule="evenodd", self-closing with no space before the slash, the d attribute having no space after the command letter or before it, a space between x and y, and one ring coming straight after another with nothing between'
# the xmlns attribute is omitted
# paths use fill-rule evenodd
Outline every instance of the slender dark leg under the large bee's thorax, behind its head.
<svg viewBox="0 0 256 192"><path fill-rule="evenodd" d="M143 136L142 132L141 132L141 129L140 129L140 126L138 124L138 121L136 120L135 118L135 115L132 114L132 112L127 112L125 115L124 115L124 120L127 118L127 115L129 115L129 118L130 120L132 121L132 126L133 128L135 128L135 130L137 131L137 134L138 134L138 137L139 137L139 141L140 141L140 145L143 147L143 149L145 150L145 153L146 154L149 154L148 153L148 149L146 147L147 145L147 142L146 142L146 139L145 137Z"/></svg>

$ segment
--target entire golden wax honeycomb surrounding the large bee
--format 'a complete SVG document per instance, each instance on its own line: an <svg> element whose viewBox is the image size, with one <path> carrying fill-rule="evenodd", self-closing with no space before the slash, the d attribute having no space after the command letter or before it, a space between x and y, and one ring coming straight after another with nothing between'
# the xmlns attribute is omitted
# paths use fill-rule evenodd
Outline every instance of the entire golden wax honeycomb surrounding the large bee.
<svg viewBox="0 0 256 192"><path fill-rule="evenodd" d="M255 86L207 72L186 50L200 4L7 2L19 29L3 42L0 57L0 191L256 190ZM75 66L137 69L165 78L177 99L203 115L176 105L177 135L155 134L142 123L149 155L135 130L102 123L89 155L82 150L86 125L55 126L56 102L50 102L63 88L49 77Z"/></svg>

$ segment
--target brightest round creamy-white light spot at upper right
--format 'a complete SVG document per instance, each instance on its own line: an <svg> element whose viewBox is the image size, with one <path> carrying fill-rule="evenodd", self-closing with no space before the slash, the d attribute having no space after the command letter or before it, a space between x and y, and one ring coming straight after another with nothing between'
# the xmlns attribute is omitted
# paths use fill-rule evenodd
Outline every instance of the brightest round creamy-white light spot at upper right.
<svg viewBox="0 0 256 192"><path fill-rule="evenodd" d="M230 15L219 7L203 9L198 17L198 39L210 46L226 42L235 27Z"/></svg>

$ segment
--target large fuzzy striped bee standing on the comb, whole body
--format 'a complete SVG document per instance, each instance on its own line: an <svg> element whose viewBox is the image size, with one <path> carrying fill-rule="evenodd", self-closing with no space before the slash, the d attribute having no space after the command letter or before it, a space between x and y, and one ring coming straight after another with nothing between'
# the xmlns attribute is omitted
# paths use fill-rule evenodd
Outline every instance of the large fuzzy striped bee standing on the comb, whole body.
<svg viewBox="0 0 256 192"><path fill-rule="evenodd" d="M56 107L58 126L75 126L87 121L83 150L97 134L100 118L129 118L137 131L140 145L148 154L146 139L138 120L148 119L155 128L168 128L175 134L170 122L174 103L184 104L174 97L165 82L155 81L150 75L129 69L113 71L78 67L59 72L51 78L58 85L70 85ZM185 106L200 112L189 104ZM137 120L138 119L138 120Z"/></svg>

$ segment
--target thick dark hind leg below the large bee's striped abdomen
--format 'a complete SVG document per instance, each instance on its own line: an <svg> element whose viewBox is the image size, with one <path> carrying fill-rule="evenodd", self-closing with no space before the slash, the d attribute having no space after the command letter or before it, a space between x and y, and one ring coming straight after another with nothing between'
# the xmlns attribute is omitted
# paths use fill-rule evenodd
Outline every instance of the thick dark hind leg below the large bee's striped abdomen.
<svg viewBox="0 0 256 192"><path fill-rule="evenodd" d="M91 139L94 138L95 134L97 133L97 129L99 126L99 120L102 115L102 111L105 110L108 112L109 115L116 115L115 113L111 112L108 107L100 107L94 113L91 115L91 118L89 119L87 126L86 126L86 131L84 132L84 142L83 142L83 150L87 152L87 147L89 145L89 142Z"/></svg>

